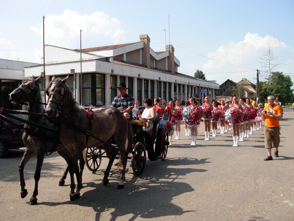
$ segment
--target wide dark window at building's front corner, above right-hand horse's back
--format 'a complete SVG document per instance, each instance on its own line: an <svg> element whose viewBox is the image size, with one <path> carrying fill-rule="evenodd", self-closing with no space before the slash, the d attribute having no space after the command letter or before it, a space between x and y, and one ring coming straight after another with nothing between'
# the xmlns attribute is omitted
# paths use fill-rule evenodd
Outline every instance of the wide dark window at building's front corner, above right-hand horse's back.
<svg viewBox="0 0 294 221"><path fill-rule="evenodd" d="M82 101L84 106L102 106L105 104L105 75L83 74Z"/></svg>

